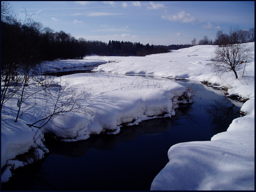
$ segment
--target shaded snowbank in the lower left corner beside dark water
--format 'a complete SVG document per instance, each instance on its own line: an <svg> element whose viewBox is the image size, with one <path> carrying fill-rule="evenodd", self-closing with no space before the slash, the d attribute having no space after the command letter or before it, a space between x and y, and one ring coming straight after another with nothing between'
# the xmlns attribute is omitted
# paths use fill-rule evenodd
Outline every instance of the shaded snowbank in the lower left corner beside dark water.
<svg viewBox="0 0 256 192"><path fill-rule="evenodd" d="M29 128L26 122L19 120L15 123L12 118L1 119L1 169L5 166L1 175L1 182L6 182L12 176L11 170L23 167L35 160L40 160L49 150L43 144L42 132L37 128ZM22 161L16 158L32 150L29 157ZM23 157L24 159L24 157Z"/></svg>

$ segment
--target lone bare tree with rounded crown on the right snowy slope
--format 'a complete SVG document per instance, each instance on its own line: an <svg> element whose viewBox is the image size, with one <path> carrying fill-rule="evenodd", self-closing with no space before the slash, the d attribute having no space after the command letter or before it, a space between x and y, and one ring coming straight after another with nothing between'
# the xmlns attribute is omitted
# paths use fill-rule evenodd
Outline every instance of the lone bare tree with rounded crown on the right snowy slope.
<svg viewBox="0 0 256 192"><path fill-rule="evenodd" d="M212 66L217 75L233 71L237 79L237 71L243 69L252 57L252 49L246 44L220 45L216 46L207 65Z"/></svg>

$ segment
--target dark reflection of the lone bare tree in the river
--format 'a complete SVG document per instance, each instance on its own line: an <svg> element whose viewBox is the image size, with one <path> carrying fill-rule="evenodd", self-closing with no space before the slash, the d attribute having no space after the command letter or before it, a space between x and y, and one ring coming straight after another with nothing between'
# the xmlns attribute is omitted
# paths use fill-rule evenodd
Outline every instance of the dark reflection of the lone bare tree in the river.
<svg viewBox="0 0 256 192"><path fill-rule="evenodd" d="M236 111L234 111L234 104L231 104L225 100L214 100L215 104L209 105L205 110L209 114L213 128L217 131L227 131L228 126L231 124ZM239 114L237 113L237 117ZM236 117L235 117L236 118Z"/></svg>

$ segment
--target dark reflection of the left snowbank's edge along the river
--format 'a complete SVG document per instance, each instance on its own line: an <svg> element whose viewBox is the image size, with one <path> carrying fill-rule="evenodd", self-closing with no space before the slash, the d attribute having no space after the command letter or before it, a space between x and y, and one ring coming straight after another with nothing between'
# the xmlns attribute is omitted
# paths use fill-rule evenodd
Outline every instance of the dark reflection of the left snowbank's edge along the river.
<svg viewBox="0 0 256 192"><path fill-rule="evenodd" d="M90 149L101 151L112 150L115 149L118 143L130 142L142 135L156 135L168 132L172 127L173 119L188 114L191 108L191 104L182 105L175 110L175 117L162 117L143 121L140 125L123 126L119 134L92 135L85 141L55 142L53 140L49 141L50 139L47 139L46 135L46 140L48 141L47 146L51 154L73 158L85 155ZM190 119L192 119L192 116Z"/></svg>

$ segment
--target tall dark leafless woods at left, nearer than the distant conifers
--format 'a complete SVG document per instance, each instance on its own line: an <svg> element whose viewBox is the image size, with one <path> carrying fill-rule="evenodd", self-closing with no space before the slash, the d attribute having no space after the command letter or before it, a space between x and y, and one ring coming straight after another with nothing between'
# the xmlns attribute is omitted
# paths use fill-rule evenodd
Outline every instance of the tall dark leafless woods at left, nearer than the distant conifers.
<svg viewBox="0 0 256 192"><path fill-rule="evenodd" d="M10 18L1 21L2 61L82 59L87 54L87 44L64 31L54 32L41 23L22 23ZM11 54L10 54L11 53Z"/></svg>

